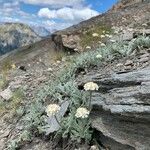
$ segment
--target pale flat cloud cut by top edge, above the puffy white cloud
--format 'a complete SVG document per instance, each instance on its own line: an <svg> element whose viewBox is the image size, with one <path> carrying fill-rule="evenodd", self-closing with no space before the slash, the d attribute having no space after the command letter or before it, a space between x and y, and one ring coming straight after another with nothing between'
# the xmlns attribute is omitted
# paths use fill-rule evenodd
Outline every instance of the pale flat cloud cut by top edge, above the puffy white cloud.
<svg viewBox="0 0 150 150"><path fill-rule="evenodd" d="M34 5L50 5L50 6L74 6L79 5L85 0L20 0L27 4Z"/></svg>

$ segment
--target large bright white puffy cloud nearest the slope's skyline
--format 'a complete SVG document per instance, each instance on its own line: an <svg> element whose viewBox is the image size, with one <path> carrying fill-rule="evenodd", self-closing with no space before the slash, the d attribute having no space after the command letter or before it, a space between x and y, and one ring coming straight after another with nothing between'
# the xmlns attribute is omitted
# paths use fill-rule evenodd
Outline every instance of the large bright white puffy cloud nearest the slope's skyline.
<svg viewBox="0 0 150 150"><path fill-rule="evenodd" d="M91 17L97 16L99 13L88 7L82 9L64 7L58 10L50 10L49 8L42 8L38 12L39 17L45 17L49 19L63 19L73 22L79 22L87 20Z"/></svg>

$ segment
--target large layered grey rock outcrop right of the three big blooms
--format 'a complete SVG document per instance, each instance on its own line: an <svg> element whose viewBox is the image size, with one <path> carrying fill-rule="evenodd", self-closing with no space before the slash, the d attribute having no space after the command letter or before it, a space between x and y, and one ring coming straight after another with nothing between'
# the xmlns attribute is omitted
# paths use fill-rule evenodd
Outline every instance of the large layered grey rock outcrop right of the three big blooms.
<svg viewBox="0 0 150 150"><path fill-rule="evenodd" d="M99 76L89 75L99 85L99 92L93 93L90 118L101 144L111 150L148 150L150 66Z"/></svg>

